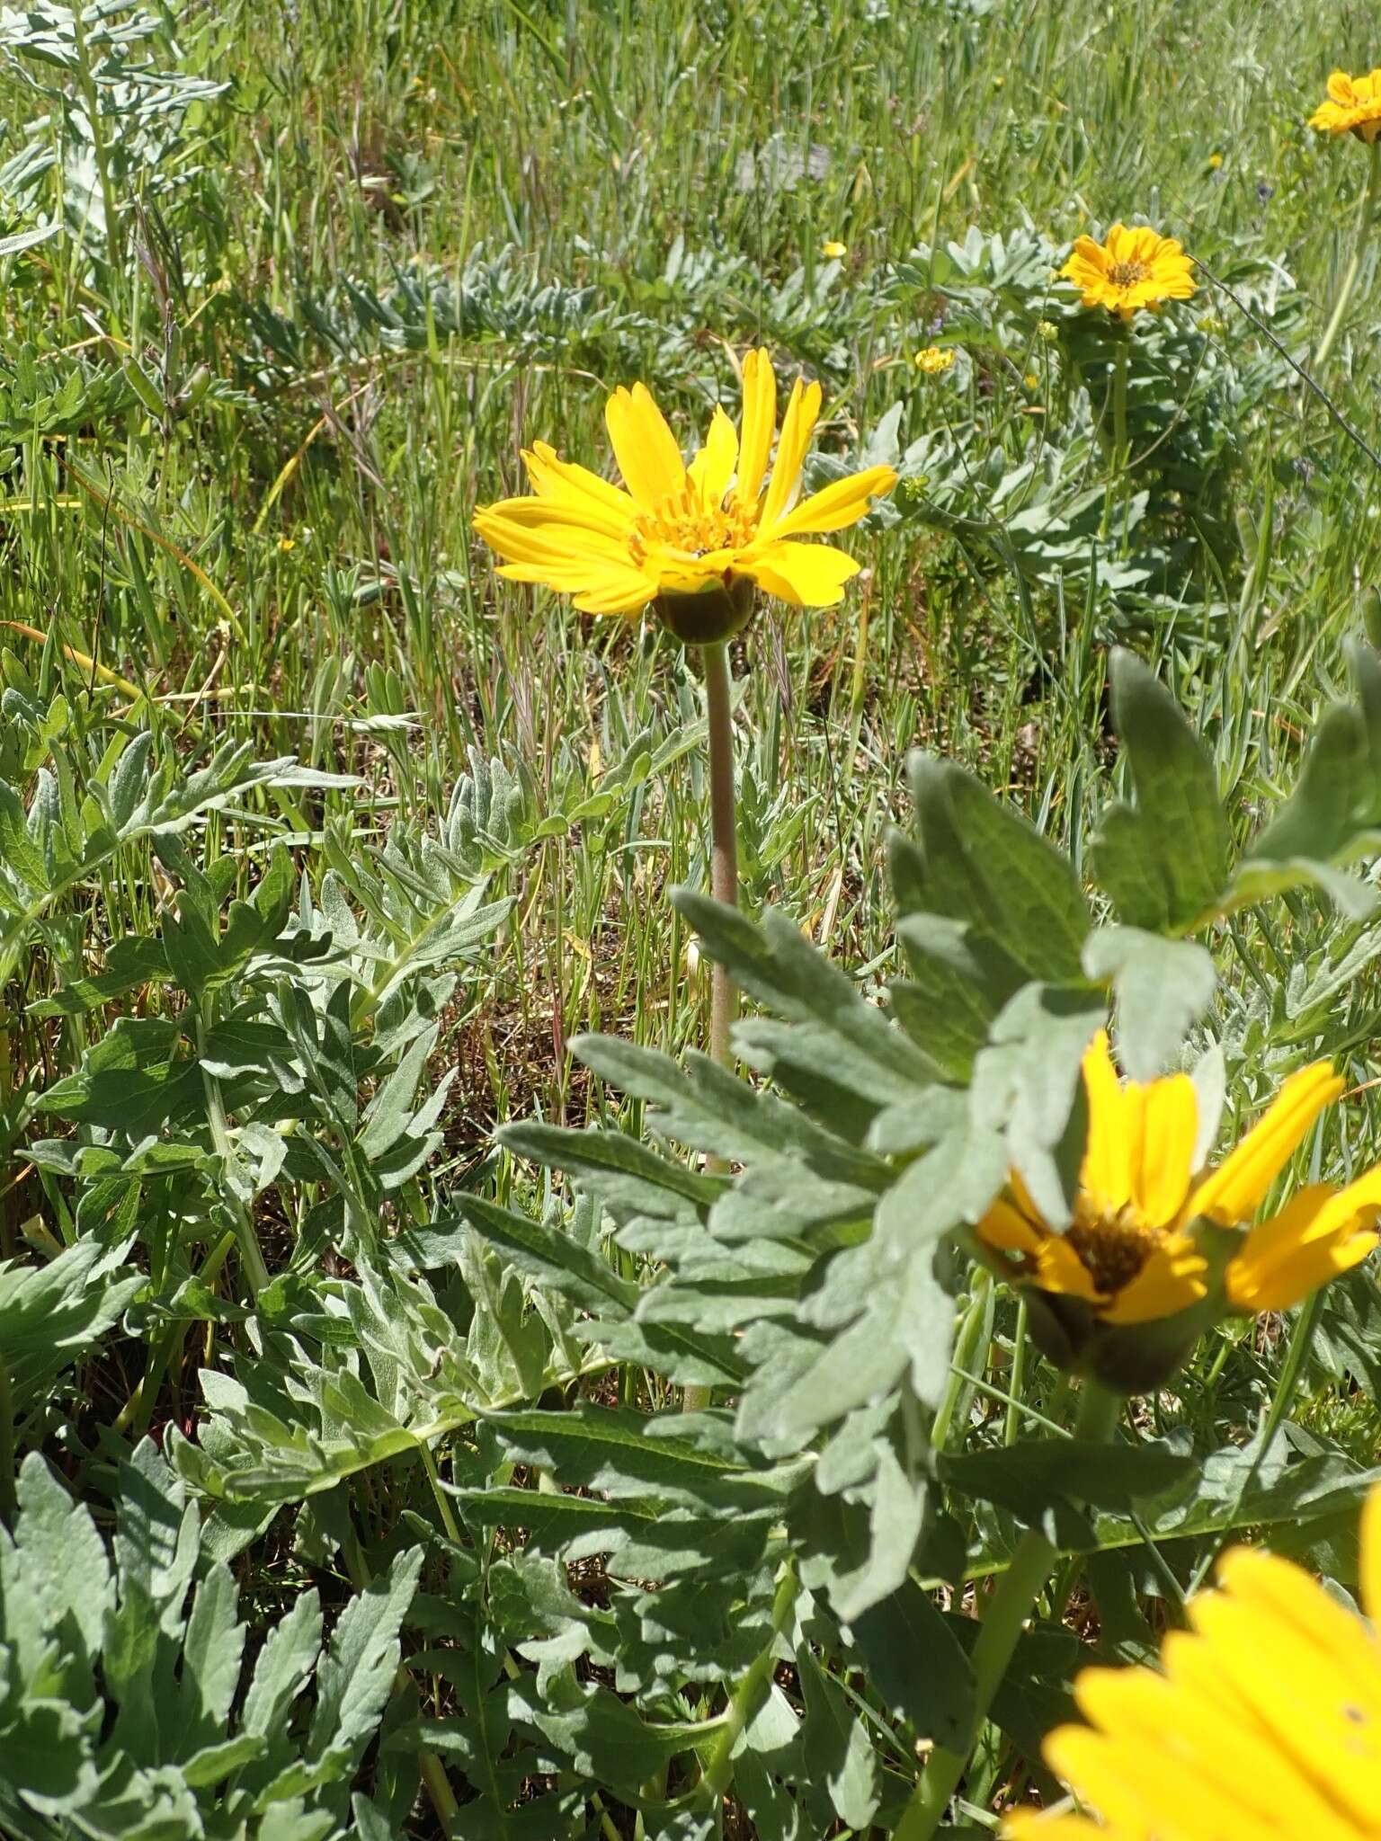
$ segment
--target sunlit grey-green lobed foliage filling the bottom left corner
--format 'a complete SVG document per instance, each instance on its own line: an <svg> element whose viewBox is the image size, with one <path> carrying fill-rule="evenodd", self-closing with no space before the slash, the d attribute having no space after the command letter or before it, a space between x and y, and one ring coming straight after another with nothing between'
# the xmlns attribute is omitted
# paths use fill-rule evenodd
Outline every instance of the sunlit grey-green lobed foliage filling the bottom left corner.
<svg viewBox="0 0 1381 1841"><path fill-rule="evenodd" d="M221 1561L199 1569L197 1508L147 1440L118 1484L110 1548L31 1453L13 1535L0 1530L6 1830L368 1834L350 1782L394 1688L420 1550L352 1598L330 1637L304 1592L247 1664L236 1580Z"/></svg>

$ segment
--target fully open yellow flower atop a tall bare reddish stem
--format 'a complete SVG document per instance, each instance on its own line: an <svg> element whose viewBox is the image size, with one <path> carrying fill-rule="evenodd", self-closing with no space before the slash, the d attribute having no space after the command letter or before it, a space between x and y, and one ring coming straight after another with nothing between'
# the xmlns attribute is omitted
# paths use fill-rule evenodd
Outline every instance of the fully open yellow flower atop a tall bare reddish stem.
<svg viewBox="0 0 1381 1841"><path fill-rule="evenodd" d="M632 615L656 600L689 641L727 637L748 619L753 585L794 608L832 608L858 563L801 539L858 523L897 475L867 468L797 503L819 401L819 385L797 377L768 477L777 377L766 352L744 359L740 429L716 407L689 466L646 387L619 388L604 420L626 490L534 442L523 451L534 495L486 506L475 530L508 580L573 595L586 613ZM700 622L685 615L696 602Z"/></svg>

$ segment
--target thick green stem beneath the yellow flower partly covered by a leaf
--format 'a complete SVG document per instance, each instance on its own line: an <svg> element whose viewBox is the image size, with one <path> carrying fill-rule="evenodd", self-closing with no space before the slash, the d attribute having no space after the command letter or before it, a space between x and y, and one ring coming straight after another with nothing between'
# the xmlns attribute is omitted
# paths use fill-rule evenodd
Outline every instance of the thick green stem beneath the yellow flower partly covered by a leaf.
<svg viewBox="0 0 1381 1841"><path fill-rule="evenodd" d="M1073 1436L1092 1440L1110 1438L1120 1414L1121 1401L1116 1394L1108 1394L1096 1381L1085 1381ZM970 1743L963 1751L948 1751L945 1745L935 1745L915 1795L893 1832L893 1841L930 1841L945 1821L950 1799L959 1788L969 1769L969 1760L983 1734L992 1697L1002 1686L1002 1677L1007 1673L1007 1664L1022 1635L1022 1626L1031 1615L1042 1585L1050 1578L1057 1552L1059 1548L1044 1534L1037 1534L1035 1528L1027 1528L1022 1535L1011 1565L1002 1574L1002 1581L989 1602L978 1642L974 1644L974 1725Z"/></svg>

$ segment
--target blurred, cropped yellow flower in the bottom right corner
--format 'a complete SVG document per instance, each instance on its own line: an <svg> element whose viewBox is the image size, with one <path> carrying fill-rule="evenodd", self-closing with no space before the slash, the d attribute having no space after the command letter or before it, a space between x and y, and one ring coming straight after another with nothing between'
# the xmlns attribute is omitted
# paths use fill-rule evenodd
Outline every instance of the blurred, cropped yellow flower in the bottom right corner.
<svg viewBox="0 0 1381 1841"><path fill-rule="evenodd" d="M1381 1616L1381 1489L1363 1510L1363 1604ZM1086 1668L1088 1725L1046 1762L1105 1817L1011 1815L1004 1841L1375 1841L1381 1642L1304 1569L1248 1546L1190 1600L1160 1668Z"/></svg>

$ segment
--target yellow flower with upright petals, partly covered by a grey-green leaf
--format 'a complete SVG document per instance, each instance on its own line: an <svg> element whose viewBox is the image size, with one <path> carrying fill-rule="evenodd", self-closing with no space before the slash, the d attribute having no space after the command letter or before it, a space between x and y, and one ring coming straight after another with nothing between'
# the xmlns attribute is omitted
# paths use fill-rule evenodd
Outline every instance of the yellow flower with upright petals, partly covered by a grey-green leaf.
<svg viewBox="0 0 1381 1841"><path fill-rule="evenodd" d="M1337 1095L1317 1060L1293 1073L1217 1169L1197 1175L1199 1103L1188 1073L1120 1083L1108 1038L1085 1055L1088 1138L1073 1221L1050 1228L1016 1171L978 1224L978 1237L1024 1285L1079 1300L1103 1324L1149 1324L1208 1296L1201 1224L1241 1230ZM1346 1189L1311 1184L1241 1233L1223 1268L1228 1311L1285 1311L1377 1245L1381 1167ZM1059 1309L1059 1305L1057 1305Z"/></svg>

